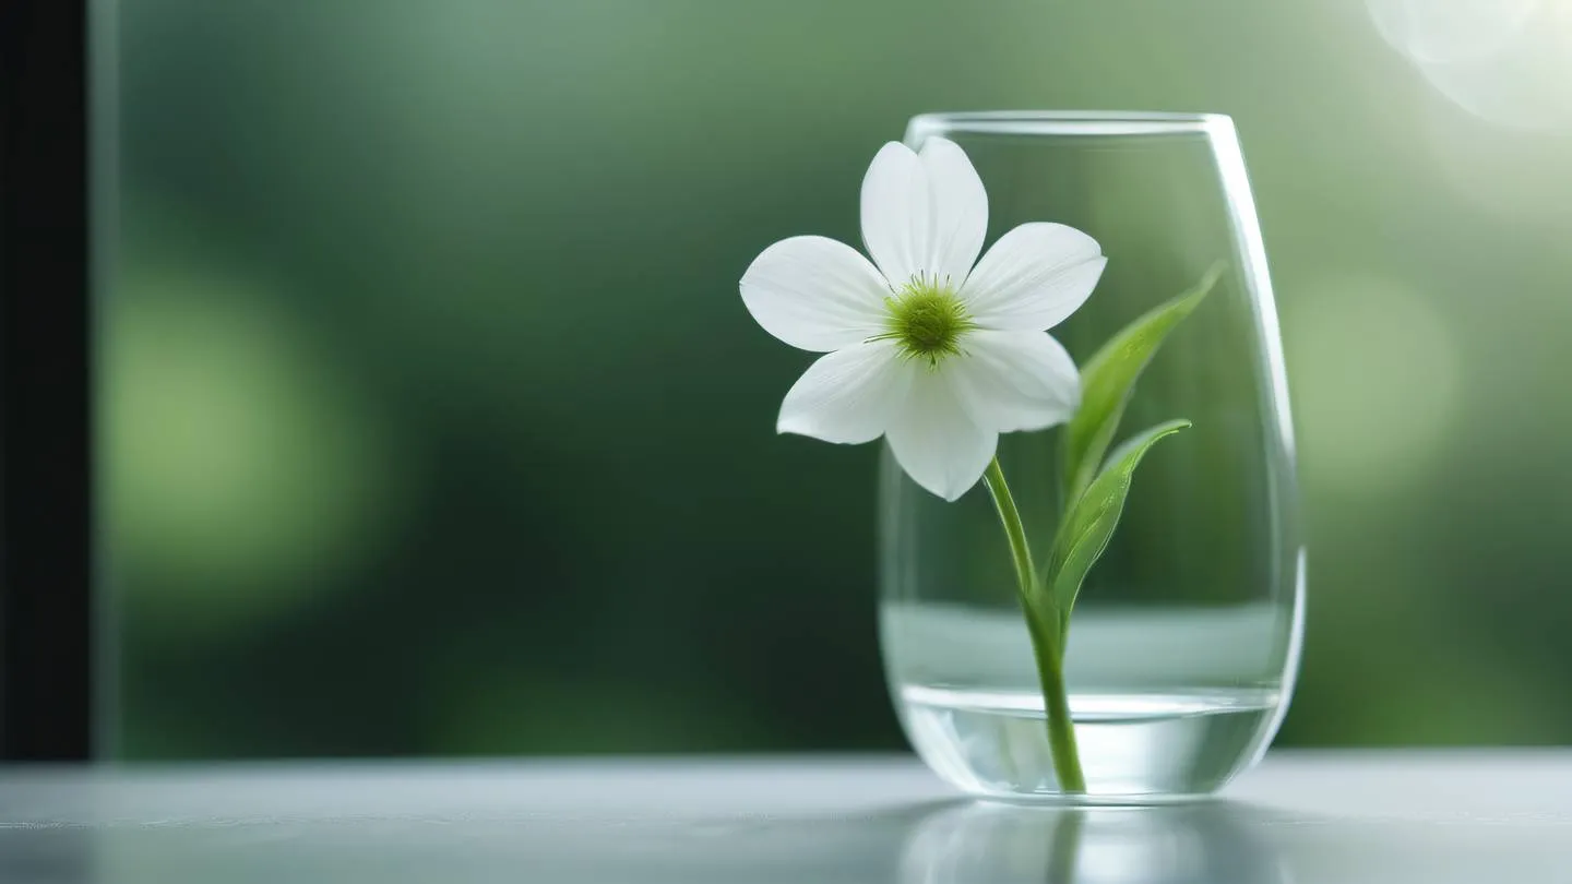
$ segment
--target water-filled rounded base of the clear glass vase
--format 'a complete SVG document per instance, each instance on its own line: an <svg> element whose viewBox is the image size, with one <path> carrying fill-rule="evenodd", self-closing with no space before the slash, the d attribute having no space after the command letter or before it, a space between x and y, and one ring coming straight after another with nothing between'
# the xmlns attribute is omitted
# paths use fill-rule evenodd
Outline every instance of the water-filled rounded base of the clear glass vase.
<svg viewBox="0 0 1572 884"><path fill-rule="evenodd" d="M1250 766L1281 695L1270 689L1071 694L1086 793L1060 788L1042 695L907 684L918 755L979 796L1055 804L1160 804L1217 791Z"/></svg>

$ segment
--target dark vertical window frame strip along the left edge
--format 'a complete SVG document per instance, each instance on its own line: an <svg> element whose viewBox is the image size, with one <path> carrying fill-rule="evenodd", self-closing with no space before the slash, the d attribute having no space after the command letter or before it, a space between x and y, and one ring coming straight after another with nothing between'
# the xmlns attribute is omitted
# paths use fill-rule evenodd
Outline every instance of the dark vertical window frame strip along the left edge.
<svg viewBox="0 0 1572 884"><path fill-rule="evenodd" d="M93 753L88 0L0 3L0 758Z"/></svg>

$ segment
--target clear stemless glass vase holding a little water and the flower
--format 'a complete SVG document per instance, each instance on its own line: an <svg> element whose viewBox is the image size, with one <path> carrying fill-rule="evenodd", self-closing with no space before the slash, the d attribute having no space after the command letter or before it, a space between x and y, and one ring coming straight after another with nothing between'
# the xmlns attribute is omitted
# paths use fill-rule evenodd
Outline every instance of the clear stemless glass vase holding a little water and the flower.
<svg viewBox="0 0 1572 884"><path fill-rule="evenodd" d="M907 143L959 143L989 193L989 242L1036 220L1102 244L1091 299L1052 330L1083 363L1137 316L1223 272L1141 374L1116 439L1184 417L1152 448L1082 587L1063 694L1085 788L1049 739L1047 676L979 483L956 503L885 451L880 642L918 755L984 796L1155 802L1215 791L1265 749L1303 629L1294 442L1256 209L1232 121L1165 113L946 113ZM1028 540L1049 549L1063 428L1000 437ZM1045 713L1045 708L1049 713Z"/></svg>

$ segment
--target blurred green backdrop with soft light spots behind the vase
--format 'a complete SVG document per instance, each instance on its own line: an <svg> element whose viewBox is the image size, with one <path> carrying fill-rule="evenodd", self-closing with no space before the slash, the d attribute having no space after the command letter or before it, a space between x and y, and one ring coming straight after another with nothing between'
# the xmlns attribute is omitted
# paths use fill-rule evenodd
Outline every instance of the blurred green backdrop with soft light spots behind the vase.
<svg viewBox="0 0 1572 884"><path fill-rule="evenodd" d="M1311 544L1280 742L1572 741L1569 6L105 2L110 753L901 746L876 448L775 436L808 357L736 282L989 107L1239 124Z"/></svg>

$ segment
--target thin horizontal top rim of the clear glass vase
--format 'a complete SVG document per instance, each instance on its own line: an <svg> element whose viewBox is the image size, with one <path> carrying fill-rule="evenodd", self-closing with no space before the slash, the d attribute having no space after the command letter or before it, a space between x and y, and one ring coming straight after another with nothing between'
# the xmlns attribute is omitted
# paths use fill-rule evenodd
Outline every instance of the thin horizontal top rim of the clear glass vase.
<svg viewBox="0 0 1572 884"><path fill-rule="evenodd" d="M1176 135L1232 132L1226 113L1163 110L951 110L918 113L907 137L970 132L987 135Z"/></svg>

